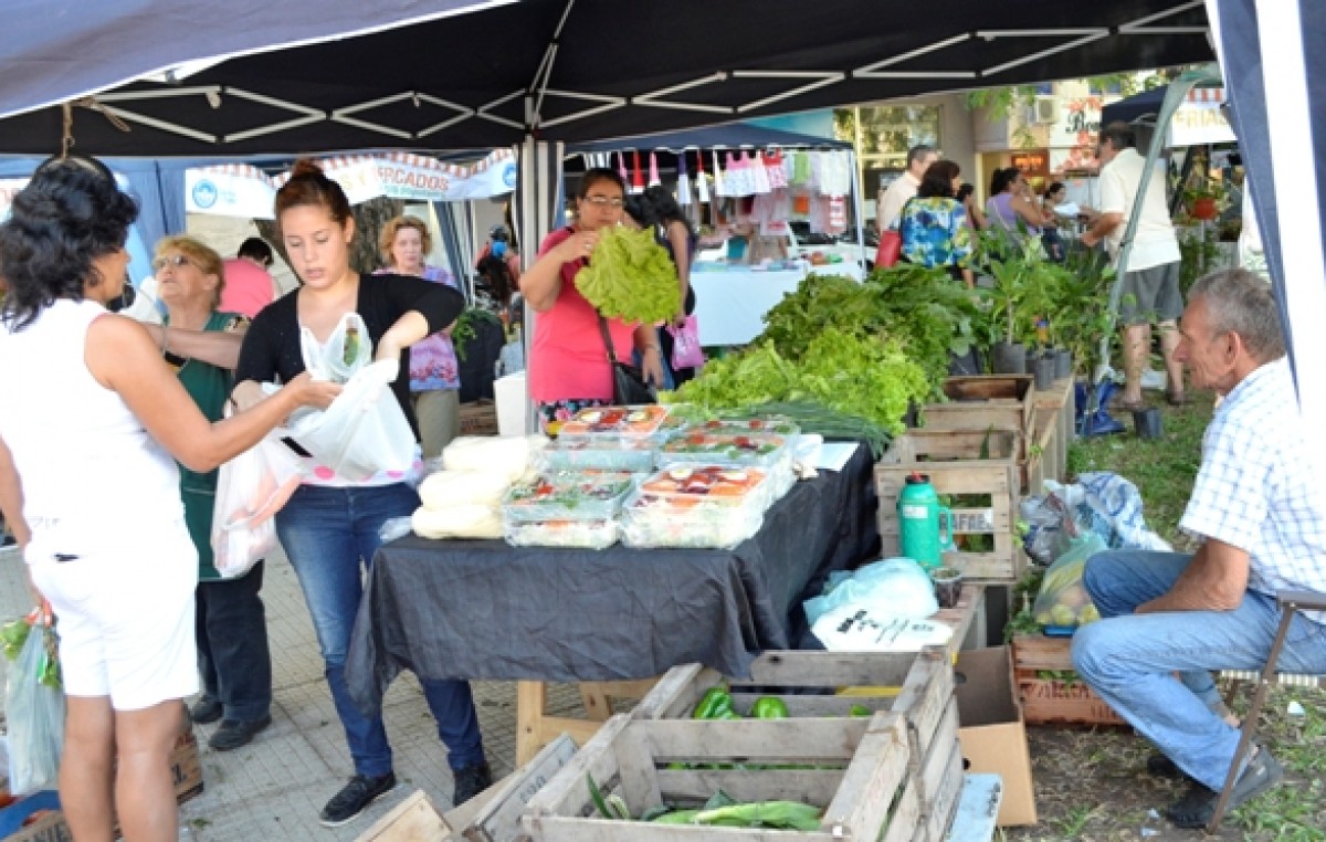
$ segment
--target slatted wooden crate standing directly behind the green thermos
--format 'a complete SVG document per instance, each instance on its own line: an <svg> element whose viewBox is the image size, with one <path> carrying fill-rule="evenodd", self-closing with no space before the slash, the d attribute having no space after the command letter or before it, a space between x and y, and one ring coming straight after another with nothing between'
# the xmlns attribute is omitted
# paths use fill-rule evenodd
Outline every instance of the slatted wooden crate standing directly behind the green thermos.
<svg viewBox="0 0 1326 842"><path fill-rule="evenodd" d="M894 439L875 464L879 495L879 536L884 556L902 553L898 524L898 497L907 476L930 476L940 495L976 496L976 505L953 508L955 536L992 536L989 552L948 552L944 564L980 582L1013 582L1021 578L1026 557L1016 540L1017 500L1022 487L1020 465L1013 457L1017 434L1013 430L930 431L914 430ZM983 450L988 459L981 459Z"/></svg>

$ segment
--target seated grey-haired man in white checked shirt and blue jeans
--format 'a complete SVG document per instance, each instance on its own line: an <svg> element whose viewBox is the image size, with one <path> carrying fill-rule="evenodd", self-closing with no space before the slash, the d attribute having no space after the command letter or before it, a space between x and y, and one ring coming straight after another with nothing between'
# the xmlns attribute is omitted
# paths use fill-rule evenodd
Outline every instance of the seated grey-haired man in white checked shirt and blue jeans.
<svg viewBox="0 0 1326 842"><path fill-rule="evenodd" d="M1280 622L1276 591L1326 593L1326 484L1297 411L1266 284L1242 269L1208 274L1189 293L1180 333L1176 354L1193 385L1224 398L1180 522L1201 546L1193 556L1094 556L1085 583L1103 619L1078 630L1073 663L1164 753L1148 762L1152 772L1168 768L1192 780L1166 815L1180 827L1201 827L1238 745L1211 671L1265 664ZM1278 664L1286 672L1326 672L1326 617L1297 617ZM1270 752L1257 748L1231 809L1282 774Z"/></svg>

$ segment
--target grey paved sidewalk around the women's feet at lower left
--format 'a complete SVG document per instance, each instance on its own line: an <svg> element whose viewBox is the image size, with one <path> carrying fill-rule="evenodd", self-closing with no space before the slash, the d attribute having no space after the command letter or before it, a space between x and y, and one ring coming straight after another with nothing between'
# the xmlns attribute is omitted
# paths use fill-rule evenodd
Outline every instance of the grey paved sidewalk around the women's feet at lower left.
<svg viewBox="0 0 1326 842"><path fill-rule="evenodd" d="M452 780L447 751L418 683L407 674L392 684L383 708L400 785L343 827L318 825L322 805L351 774L350 756L322 680L322 660L304 594L284 556L268 560L263 599L276 686L272 725L235 752L213 752L207 747L216 725L195 728L206 789L180 808L180 839L355 839L415 789L424 790L439 812L450 809ZM0 550L0 622L30 607L23 560L12 549ZM516 686L476 682L473 688L488 761L495 778L500 778L512 770L516 757ZM562 713L579 711L577 687L550 687L549 707Z"/></svg>

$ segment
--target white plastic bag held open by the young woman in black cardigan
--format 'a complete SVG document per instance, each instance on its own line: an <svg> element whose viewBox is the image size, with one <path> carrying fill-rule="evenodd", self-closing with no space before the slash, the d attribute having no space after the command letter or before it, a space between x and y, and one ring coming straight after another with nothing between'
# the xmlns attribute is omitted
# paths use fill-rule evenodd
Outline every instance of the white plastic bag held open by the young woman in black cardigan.
<svg viewBox="0 0 1326 842"><path fill-rule="evenodd" d="M337 476L362 481L382 471L402 479L414 468L415 438L389 389L400 373L395 359L358 371L326 410L293 415L285 434Z"/></svg>

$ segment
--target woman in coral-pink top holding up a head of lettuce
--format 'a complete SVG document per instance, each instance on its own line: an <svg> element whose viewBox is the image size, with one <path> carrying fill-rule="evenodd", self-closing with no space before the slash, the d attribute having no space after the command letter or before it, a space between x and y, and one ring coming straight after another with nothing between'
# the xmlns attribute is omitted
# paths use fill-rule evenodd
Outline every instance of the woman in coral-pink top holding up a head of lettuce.
<svg viewBox="0 0 1326 842"><path fill-rule="evenodd" d="M589 265L598 232L622 221L626 186L611 170L589 170L575 198L575 224L554 231L538 248L538 259L520 278L529 306L538 313L529 354L529 394L538 404L542 426L560 426L587 406L613 403L613 367L594 306L575 289L575 273ZM642 370L655 386L663 383L663 357L652 325L607 318L613 351L630 361L639 350Z"/></svg>

